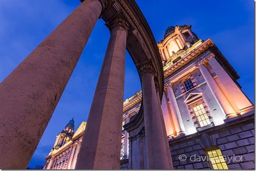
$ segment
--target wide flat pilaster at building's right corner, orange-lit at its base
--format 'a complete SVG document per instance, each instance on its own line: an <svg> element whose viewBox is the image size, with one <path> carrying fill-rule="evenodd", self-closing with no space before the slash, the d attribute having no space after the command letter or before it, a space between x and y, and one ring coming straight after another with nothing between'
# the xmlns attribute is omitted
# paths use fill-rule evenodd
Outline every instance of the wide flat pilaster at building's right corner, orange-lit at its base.
<svg viewBox="0 0 256 171"><path fill-rule="evenodd" d="M245 94L237 86L234 80L231 79L231 77L220 65L220 63L218 63L215 58L210 58L208 62L215 74L220 79L220 82L223 85L223 87L220 88L222 89L225 96L228 98L228 101L230 102L234 110L236 110L237 113L242 113L243 111L253 108L250 100L245 96Z"/></svg>

